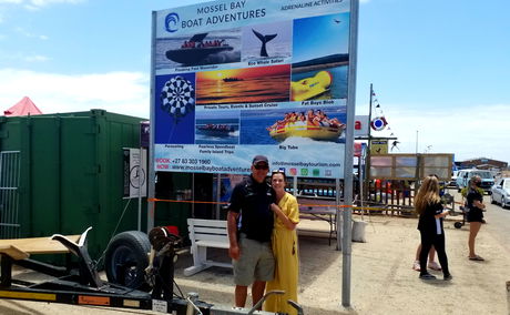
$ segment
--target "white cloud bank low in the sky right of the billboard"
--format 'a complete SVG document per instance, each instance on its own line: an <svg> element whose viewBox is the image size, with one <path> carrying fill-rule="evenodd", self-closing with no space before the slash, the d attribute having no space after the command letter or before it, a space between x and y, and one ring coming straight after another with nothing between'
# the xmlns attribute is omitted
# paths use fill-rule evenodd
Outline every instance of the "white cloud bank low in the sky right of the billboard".
<svg viewBox="0 0 510 315"><path fill-rule="evenodd" d="M508 162L509 109L510 104L441 109L386 104L391 130L381 134L392 132L398 138L400 151L392 153L415 153L418 131L418 153L430 145L429 153L455 153L458 161L484 156Z"/></svg>

